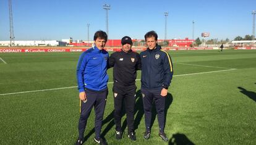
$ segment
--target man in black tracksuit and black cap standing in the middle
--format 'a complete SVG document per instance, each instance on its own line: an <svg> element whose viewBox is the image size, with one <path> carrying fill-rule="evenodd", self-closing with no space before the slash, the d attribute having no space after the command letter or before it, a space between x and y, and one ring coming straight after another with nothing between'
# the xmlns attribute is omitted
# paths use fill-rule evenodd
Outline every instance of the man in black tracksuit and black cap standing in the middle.
<svg viewBox="0 0 256 145"><path fill-rule="evenodd" d="M134 132L135 79L137 70L141 68L140 55L132 52L132 39L124 36L121 40L122 50L109 57L109 67L114 67L114 121L116 123L116 139L122 138L121 110L122 102L127 114L128 137L136 140Z"/></svg>

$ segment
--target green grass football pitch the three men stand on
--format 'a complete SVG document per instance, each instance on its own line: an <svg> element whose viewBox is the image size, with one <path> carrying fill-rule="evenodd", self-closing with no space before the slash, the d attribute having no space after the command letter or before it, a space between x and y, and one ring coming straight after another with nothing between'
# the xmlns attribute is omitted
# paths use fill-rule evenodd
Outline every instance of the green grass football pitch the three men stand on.
<svg viewBox="0 0 256 145"><path fill-rule="evenodd" d="M116 141L111 68L101 131L108 144L256 144L256 50L169 54L174 65L166 98L165 131L169 142L158 136L155 110L151 138L143 139L140 80L136 81L137 141L130 141L127 131L121 141ZM80 52L0 54L0 144L74 144L79 119L79 55ZM94 118L92 111L85 144L96 144Z"/></svg>

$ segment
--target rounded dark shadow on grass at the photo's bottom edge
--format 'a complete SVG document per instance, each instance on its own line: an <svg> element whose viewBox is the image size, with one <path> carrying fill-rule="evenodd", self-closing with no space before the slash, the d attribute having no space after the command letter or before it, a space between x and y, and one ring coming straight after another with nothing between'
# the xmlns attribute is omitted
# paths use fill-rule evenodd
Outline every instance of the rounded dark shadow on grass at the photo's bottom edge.
<svg viewBox="0 0 256 145"><path fill-rule="evenodd" d="M181 133L174 134L171 139L169 139L169 145L194 145L192 141L187 138L186 135Z"/></svg>

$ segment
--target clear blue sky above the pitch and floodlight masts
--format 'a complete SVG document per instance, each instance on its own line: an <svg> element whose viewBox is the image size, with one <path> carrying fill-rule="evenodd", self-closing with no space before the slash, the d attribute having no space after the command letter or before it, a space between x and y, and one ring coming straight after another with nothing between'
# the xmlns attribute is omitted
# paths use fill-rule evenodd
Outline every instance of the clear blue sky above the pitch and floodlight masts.
<svg viewBox="0 0 256 145"><path fill-rule="evenodd" d="M0 41L9 40L8 0L0 0ZM230 39L252 35L255 0L12 0L15 40L87 40L97 30L106 31L106 10L109 4L109 39L130 36L144 39L155 30L164 39L164 12L167 17L167 39L200 38Z"/></svg>

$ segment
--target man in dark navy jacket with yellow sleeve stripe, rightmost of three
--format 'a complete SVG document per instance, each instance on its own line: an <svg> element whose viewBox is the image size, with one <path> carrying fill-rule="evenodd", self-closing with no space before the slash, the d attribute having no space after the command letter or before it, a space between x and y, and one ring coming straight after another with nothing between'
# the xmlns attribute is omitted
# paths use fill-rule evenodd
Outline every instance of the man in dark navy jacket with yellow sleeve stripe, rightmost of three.
<svg viewBox="0 0 256 145"><path fill-rule="evenodd" d="M141 92L146 126L144 138L150 138L151 109L155 102L160 128L159 135L164 141L168 141L168 137L164 133L164 101L173 78L173 63L169 54L157 44L157 38L155 31L146 33L145 41L148 48L140 53L142 60Z"/></svg>

